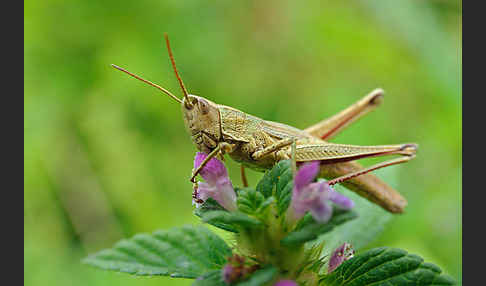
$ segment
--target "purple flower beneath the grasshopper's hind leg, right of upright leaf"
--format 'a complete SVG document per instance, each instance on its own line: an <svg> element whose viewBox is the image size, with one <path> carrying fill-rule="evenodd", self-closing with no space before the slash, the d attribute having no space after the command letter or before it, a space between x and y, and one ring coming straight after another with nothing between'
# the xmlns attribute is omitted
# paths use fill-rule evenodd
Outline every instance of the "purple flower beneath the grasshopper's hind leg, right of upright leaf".
<svg viewBox="0 0 486 286"><path fill-rule="evenodd" d="M328 222L332 216L332 207L328 201L344 209L354 206L353 201L334 191L325 180L312 182L319 173L319 164L319 161L306 163L295 175L291 203L294 220L300 219L310 211L316 221Z"/></svg>

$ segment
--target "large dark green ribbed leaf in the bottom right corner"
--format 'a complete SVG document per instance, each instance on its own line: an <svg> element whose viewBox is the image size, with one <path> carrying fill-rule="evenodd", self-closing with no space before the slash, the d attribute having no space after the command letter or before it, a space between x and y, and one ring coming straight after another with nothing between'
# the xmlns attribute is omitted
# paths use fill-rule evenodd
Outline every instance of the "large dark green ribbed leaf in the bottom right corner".
<svg viewBox="0 0 486 286"><path fill-rule="evenodd" d="M439 267L397 248L374 248L343 262L320 285L454 285Z"/></svg>

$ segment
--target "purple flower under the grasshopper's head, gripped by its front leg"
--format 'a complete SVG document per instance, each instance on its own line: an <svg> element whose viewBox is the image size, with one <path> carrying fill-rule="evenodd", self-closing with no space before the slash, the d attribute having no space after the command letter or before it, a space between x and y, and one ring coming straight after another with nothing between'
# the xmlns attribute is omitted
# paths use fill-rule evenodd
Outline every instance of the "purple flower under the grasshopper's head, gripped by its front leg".
<svg viewBox="0 0 486 286"><path fill-rule="evenodd" d="M207 156L197 152L194 158L194 169L199 167ZM199 207L201 202L213 198L229 211L237 209L236 193L228 177L228 171L221 161L211 158L199 174L206 182L198 182L197 189L193 193L193 204Z"/></svg>

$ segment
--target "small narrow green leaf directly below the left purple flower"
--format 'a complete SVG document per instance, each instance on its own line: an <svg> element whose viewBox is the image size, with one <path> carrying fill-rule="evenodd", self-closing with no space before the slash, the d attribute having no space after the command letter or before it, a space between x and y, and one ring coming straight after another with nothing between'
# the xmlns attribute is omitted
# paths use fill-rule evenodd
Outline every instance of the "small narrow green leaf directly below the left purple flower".
<svg viewBox="0 0 486 286"><path fill-rule="evenodd" d="M203 222L215 225L224 224L229 225L234 229L247 229L263 226L259 220L249 217L241 212L227 212L227 211L208 211L202 216Z"/></svg>

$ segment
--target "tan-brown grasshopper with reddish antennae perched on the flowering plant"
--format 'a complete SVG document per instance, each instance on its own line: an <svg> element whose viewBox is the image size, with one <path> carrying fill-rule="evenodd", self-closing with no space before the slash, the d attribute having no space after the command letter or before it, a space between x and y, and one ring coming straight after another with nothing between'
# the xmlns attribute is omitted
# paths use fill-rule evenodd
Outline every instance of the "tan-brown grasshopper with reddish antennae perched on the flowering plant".
<svg viewBox="0 0 486 286"><path fill-rule="evenodd" d="M327 142L349 124L380 105L384 96L382 89L375 89L338 114L301 130L283 123L263 120L233 107L189 94L177 71L167 34L165 41L174 73L184 95L182 99L138 75L116 65L112 66L160 89L180 103L184 125L193 143L198 150L208 154L206 160L193 170L191 182L195 182L197 174L211 158L218 157L224 160L225 154L241 164L242 182L245 186L245 167L265 171L280 160L292 159L295 170L295 162L319 160L319 177L330 179L330 185L342 183L389 212L403 212L407 205L406 199L370 172L411 160L415 157L417 144L357 146ZM368 168L363 168L355 162L362 158L385 155L401 157Z"/></svg>

